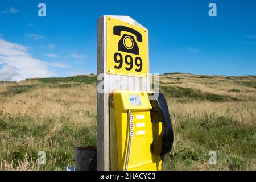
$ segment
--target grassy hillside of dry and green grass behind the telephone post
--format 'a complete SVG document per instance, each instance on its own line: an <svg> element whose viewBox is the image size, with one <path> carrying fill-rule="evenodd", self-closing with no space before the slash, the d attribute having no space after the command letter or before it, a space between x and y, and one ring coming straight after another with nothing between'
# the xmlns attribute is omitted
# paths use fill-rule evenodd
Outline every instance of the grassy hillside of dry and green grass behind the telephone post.
<svg viewBox="0 0 256 182"><path fill-rule="evenodd" d="M166 73L160 91L175 134L166 170L256 169L256 76ZM0 170L65 170L96 137L95 76L0 82Z"/></svg>

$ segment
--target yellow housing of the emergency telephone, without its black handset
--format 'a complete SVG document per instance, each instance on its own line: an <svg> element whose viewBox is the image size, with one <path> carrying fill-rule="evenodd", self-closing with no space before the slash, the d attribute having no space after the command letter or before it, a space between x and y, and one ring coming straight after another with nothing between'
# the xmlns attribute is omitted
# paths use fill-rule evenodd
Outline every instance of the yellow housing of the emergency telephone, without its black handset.
<svg viewBox="0 0 256 182"><path fill-rule="evenodd" d="M116 90L110 94L110 169L124 170L129 140L129 116L132 137L127 170L162 170L160 156L150 146L162 131L161 123L152 123L148 92Z"/></svg>

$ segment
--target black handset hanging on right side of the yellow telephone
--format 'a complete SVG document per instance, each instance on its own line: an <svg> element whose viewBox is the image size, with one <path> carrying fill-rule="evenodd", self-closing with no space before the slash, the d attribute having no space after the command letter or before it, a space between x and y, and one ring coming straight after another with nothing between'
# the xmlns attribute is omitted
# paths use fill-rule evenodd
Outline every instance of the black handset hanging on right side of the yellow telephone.
<svg viewBox="0 0 256 182"><path fill-rule="evenodd" d="M162 132L151 144L151 152L159 155L162 160L172 149L174 133L172 130L171 117L168 105L162 93L152 93L149 95L152 109L150 111L151 122L162 122Z"/></svg>

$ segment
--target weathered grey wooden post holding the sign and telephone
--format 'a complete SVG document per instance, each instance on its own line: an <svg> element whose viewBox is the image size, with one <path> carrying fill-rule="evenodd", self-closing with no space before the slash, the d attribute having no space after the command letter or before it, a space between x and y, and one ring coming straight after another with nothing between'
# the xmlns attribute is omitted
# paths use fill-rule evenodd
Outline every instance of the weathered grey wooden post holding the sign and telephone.
<svg viewBox="0 0 256 182"><path fill-rule="evenodd" d="M143 27L129 16L110 16L123 22ZM150 78L114 75L118 84L106 73L106 15L98 19L97 26L97 170L110 170L109 93L126 90L129 82L135 82L134 90L150 90ZM146 28L145 28L146 29ZM147 31L148 32L148 31ZM98 92L99 87L104 93Z"/></svg>

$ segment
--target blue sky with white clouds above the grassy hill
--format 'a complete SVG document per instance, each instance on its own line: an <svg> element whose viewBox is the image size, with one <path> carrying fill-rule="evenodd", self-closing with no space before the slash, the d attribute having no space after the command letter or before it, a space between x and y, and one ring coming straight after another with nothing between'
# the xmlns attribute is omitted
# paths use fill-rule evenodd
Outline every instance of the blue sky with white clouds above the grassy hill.
<svg viewBox="0 0 256 182"><path fill-rule="evenodd" d="M256 75L256 1L13 0L0 1L0 80L96 73L102 15L148 28L151 73Z"/></svg>

